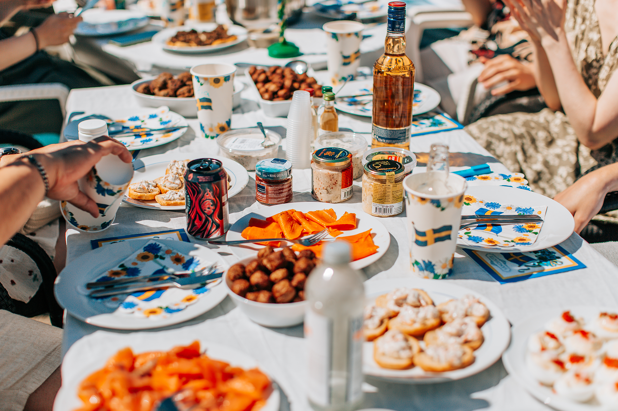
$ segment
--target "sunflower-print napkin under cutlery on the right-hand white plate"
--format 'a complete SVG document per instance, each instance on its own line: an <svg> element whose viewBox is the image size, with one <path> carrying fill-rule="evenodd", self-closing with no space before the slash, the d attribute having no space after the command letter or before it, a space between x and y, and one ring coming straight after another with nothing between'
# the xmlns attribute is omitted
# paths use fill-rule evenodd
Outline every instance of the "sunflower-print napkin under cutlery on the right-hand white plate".
<svg viewBox="0 0 618 411"><path fill-rule="evenodd" d="M464 195L462 215L491 214L491 216L529 215L540 216L545 219L547 206L523 207L513 204L502 204L496 201L488 201L469 194ZM484 248L525 247L535 243L541 232L543 223L523 223L509 225L476 224L459 230L457 236L460 242L466 245L481 246Z"/></svg>

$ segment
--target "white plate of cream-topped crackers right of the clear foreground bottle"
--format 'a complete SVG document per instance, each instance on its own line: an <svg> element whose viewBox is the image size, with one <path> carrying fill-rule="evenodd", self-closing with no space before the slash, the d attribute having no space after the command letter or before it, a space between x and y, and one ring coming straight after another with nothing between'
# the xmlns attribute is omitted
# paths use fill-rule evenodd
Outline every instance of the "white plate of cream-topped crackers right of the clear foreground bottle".
<svg viewBox="0 0 618 411"><path fill-rule="evenodd" d="M365 282L363 372L400 383L459 380L493 365L510 325L489 299L451 282Z"/></svg>

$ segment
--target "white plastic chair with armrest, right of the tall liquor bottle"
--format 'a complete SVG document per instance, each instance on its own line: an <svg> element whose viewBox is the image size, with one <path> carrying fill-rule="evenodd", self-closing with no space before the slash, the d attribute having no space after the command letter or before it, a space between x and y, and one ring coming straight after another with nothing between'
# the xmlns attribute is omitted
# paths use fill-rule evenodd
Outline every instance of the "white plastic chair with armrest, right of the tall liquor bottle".
<svg viewBox="0 0 618 411"><path fill-rule="evenodd" d="M472 15L465 11L464 6L445 9L436 6L408 7L407 15L410 25L405 33L405 54L415 63L415 81L423 83L423 65L420 58L420 44L423 31L429 28L460 28L473 24ZM476 78L471 78L469 84L462 84L464 94L457 104L457 119L464 122L472 110Z"/></svg>

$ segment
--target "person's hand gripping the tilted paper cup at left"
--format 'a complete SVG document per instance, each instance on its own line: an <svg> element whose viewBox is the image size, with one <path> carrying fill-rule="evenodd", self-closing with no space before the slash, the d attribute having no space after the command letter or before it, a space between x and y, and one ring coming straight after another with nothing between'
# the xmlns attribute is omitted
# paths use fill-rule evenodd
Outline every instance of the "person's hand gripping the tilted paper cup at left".
<svg viewBox="0 0 618 411"><path fill-rule="evenodd" d="M32 150L28 152L28 155L30 154L38 154L36 158L48 174L47 197L69 201L95 218L99 215L99 208L94 200L79 190L78 179L85 176L104 155L117 155L125 163L132 161L129 150L121 142L107 136L98 137L88 143L74 141L53 144Z"/></svg>

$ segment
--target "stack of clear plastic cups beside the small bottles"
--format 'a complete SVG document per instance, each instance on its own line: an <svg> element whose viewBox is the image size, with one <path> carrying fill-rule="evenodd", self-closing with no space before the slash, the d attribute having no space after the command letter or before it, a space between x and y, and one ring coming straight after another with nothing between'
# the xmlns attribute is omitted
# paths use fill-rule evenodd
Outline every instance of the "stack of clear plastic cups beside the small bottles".
<svg viewBox="0 0 618 411"><path fill-rule="evenodd" d="M309 168L307 153L311 143L311 102L307 91L298 90L292 96L287 115L286 157L294 168Z"/></svg>

